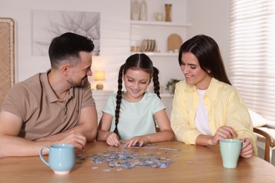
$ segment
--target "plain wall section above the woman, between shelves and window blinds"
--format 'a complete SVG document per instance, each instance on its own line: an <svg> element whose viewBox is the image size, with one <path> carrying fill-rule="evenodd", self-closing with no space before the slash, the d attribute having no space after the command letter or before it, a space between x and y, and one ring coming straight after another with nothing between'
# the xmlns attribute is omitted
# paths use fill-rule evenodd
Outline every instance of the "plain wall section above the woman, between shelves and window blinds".
<svg viewBox="0 0 275 183"><path fill-rule="evenodd" d="M188 37L196 34L206 34L219 44L221 56L224 59L226 72L229 61L229 0L188 0Z"/></svg>

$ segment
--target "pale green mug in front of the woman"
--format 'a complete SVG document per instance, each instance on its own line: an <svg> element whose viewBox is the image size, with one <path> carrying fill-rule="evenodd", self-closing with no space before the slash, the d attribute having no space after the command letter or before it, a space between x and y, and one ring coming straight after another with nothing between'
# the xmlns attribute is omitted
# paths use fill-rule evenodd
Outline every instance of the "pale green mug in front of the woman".
<svg viewBox="0 0 275 183"><path fill-rule="evenodd" d="M238 139L221 139L219 146L224 168L236 168L240 151L243 149L243 141Z"/></svg>

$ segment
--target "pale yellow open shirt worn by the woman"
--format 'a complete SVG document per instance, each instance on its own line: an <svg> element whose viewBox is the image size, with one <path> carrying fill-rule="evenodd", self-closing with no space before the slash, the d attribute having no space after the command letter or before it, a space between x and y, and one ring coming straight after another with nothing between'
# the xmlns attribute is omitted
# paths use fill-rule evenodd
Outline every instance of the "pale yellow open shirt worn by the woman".
<svg viewBox="0 0 275 183"><path fill-rule="evenodd" d="M203 101L208 111L207 120L212 134L216 134L216 130L221 126L232 127L238 134L237 139L249 137L252 140L255 155L257 155L257 137L253 133L252 120L245 101L238 90L212 78ZM198 103L199 95L195 86L190 86L185 81L176 84L171 127L176 139L185 144L195 144L197 137L201 134L195 127Z"/></svg>

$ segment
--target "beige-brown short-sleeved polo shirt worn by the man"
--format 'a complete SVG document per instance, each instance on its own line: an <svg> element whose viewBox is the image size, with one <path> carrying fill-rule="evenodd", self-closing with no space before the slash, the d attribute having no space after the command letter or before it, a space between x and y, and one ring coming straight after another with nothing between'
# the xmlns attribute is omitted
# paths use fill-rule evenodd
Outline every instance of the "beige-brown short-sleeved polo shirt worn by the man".
<svg viewBox="0 0 275 183"><path fill-rule="evenodd" d="M1 111L21 118L23 126L19 136L35 140L75 127L81 109L88 106L95 106L90 83L83 88L71 88L68 99L60 101L51 89L47 72L43 72L15 84L4 99Z"/></svg>

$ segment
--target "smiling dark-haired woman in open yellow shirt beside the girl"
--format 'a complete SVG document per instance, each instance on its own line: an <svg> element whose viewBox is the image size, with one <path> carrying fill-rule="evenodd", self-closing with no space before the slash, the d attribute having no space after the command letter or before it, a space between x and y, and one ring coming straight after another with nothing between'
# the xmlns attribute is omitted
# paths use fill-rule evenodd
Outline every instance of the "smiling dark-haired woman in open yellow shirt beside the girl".
<svg viewBox="0 0 275 183"><path fill-rule="evenodd" d="M176 84L171 127L186 144L216 146L220 139L240 139L240 156L257 155L247 107L228 80L219 46L197 35L181 46L178 62L185 80Z"/></svg>

